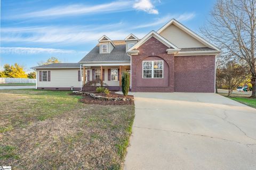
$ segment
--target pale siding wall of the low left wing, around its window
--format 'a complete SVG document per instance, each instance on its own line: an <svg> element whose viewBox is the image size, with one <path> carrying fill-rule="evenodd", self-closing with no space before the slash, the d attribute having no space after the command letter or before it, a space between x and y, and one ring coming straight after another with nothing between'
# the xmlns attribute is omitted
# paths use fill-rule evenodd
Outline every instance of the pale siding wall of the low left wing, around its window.
<svg viewBox="0 0 256 170"><path fill-rule="evenodd" d="M39 71L51 71L51 81L39 81ZM37 70L37 87L76 87L80 88L78 81L79 69L51 69ZM83 70L82 70L83 71Z"/></svg>

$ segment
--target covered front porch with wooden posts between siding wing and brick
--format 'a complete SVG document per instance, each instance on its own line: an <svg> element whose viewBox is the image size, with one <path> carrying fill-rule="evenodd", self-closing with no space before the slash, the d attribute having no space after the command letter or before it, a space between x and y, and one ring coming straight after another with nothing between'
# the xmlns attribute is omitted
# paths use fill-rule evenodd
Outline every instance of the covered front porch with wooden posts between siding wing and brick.
<svg viewBox="0 0 256 170"><path fill-rule="evenodd" d="M131 72L130 63L123 65L103 65L103 64L83 64L81 70L81 86L83 90L93 90L95 86L84 87L88 81L100 80L99 86L106 86L109 90L119 91L122 86L122 74L124 72ZM130 78L131 79L131 78ZM131 83L131 81L130 81Z"/></svg>

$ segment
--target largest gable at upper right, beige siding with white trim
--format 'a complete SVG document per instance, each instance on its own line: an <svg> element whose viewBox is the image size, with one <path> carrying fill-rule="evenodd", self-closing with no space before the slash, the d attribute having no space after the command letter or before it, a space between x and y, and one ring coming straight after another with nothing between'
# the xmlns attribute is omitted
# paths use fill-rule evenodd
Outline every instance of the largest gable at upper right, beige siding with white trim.
<svg viewBox="0 0 256 170"><path fill-rule="evenodd" d="M198 36L195 32L191 31L177 20L172 19L160 28L157 33L171 41L173 44L180 48L188 47L209 47L214 50L220 49L204 38ZM185 44L186 43L186 44Z"/></svg>

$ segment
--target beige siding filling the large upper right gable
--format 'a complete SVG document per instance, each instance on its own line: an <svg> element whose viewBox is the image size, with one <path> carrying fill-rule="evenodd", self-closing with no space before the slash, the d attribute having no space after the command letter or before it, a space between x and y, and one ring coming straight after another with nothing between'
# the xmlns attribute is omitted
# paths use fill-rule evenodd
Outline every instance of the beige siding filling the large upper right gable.
<svg viewBox="0 0 256 170"><path fill-rule="evenodd" d="M169 27L159 34L178 48L206 47L200 41L188 35L188 33L179 29L174 24L169 25Z"/></svg>

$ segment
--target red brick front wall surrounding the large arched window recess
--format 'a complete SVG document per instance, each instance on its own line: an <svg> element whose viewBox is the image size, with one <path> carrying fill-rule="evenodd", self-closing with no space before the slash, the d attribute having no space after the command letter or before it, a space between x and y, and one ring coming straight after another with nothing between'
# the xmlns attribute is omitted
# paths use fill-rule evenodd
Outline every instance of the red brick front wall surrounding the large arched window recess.
<svg viewBox="0 0 256 170"><path fill-rule="evenodd" d="M138 55L132 56L132 91L141 92L173 92L174 91L174 55L167 54L165 46L161 41L151 37L138 50ZM143 79L142 61L163 60L163 79ZM166 70L167 69L167 70ZM166 75L167 74L167 75Z"/></svg>

